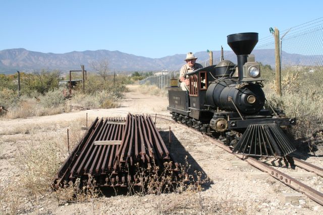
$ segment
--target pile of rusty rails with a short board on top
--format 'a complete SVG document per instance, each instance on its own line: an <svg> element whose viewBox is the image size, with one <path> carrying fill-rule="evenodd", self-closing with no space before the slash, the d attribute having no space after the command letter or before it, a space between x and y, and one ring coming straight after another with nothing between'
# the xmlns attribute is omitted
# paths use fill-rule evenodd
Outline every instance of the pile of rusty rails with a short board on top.
<svg viewBox="0 0 323 215"><path fill-rule="evenodd" d="M77 178L87 187L142 186L150 175L166 169L171 177L180 174L151 117L129 113L126 119L96 118L52 186L62 187Z"/></svg>

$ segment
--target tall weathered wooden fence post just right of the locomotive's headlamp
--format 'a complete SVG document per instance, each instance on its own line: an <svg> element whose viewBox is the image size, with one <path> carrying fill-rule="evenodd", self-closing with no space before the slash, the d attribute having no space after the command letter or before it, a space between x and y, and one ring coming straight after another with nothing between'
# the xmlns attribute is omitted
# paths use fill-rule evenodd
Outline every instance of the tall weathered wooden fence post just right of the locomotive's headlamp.
<svg viewBox="0 0 323 215"><path fill-rule="evenodd" d="M278 96L282 96L282 81L281 81L281 57L279 45L279 30L275 28L275 67L276 67L276 92Z"/></svg>

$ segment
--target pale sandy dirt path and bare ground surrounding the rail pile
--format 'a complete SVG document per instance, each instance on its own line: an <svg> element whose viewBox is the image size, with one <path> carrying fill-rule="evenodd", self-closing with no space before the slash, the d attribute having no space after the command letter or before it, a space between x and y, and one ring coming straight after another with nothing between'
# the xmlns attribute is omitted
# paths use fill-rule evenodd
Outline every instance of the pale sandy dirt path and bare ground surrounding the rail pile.
<svg viewBox="0 0 323 215"><path fill-rule="evenodd" d="M85 118L86 113L88 113L89 118L96 116L124 117L128 112L169 115L169 111L166 109L167 98L141 94L138 92L138 86L131 85L128 86L128 89L129 92L126 93L120 108L2 120L0 121L0 133L17 126L33 126L35 123L72 123L79 118ZM182 195L100 197L98 200L92 200L88 203L66 203L60 206L52 198L44 197L38 203L29 206L26 211L54 214L323 214L323 207L307 197L294 202L282 201L284 193L297 192L270 177L255 177L254 175L260 173L259 170L204 141L196 134L183 132L183 128L180 126L164 120L157 120L156 126L161 135L165 137L165 142L168 138L169 127L171 127L174 133L171 153L181 162L187 156L187 161L192 170L202 172L211 179L212 183L205 187L204 191L198 193L186 192ZM54 131L52 135L55 135ZM6 146L3 154L9 155L15 146L19 145L21 138L24 138L23 134L13 136L0 136L0 138L6 139L6 141L0 140L0 147ZM16 179L19 180L19 170L11 166L10 159L12 159L10 156L3 156L3 159L0 159L1 186L11 180L9 176L16 176ZM320 166L323 164L322 157L308 158L307 161ZM282 167L279 167L279 169L285 172L290 171ZM296 171L303 172L303 170L298 169ZM303 183L323 192L323 180L321 178L306 176L301 180Z"/></svg>

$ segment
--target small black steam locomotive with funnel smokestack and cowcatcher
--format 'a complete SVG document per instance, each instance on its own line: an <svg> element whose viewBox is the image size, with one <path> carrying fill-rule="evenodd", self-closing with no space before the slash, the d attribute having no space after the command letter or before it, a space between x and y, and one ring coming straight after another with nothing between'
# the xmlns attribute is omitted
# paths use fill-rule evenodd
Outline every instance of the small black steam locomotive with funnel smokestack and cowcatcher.
<svg viewBox="0 0 323 215"><path fill-rule="evenodd" d="M285 157L296 149L281 128L294 125L295 118L265 105L260 64L250 54L258 33L231 34L227 40L237 65L222 60L188 73L189 91L168 88L167 109L174 120L221 139L233 153Z"/></svg>

